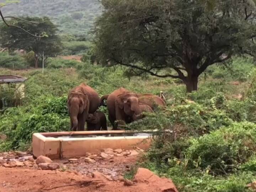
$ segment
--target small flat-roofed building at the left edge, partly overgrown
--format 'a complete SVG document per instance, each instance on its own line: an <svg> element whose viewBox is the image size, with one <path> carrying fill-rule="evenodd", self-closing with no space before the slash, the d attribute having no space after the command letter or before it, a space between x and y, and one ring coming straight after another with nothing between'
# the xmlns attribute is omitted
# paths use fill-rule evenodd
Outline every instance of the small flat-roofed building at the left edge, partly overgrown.
<svg viewBox="0 0 256 192"><path fill-rule="evenodd" d="M21 99L25 97L26 80L16 75L0 75L0 109L21 104Z"/></svg>

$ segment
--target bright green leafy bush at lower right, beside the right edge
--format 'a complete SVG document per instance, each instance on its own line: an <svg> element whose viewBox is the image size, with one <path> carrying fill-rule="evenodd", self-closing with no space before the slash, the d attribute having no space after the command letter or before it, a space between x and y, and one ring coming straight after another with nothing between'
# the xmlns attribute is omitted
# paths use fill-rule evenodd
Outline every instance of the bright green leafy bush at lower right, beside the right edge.
<svg viewBox="0 0 256 192"><path fill-rule="evenodd" d="M185 154L188 167L222 175L234 172L241 163L255 155L255 147L255 124L241 122L191 139Z"/></svg>

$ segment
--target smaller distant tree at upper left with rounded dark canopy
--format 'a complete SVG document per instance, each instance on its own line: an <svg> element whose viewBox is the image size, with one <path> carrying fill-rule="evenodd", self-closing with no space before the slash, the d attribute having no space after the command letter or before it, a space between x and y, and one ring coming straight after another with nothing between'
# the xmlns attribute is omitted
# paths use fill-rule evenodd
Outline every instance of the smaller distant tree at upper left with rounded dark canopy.
<svg viewBox="0 0 256 192"><path fill-rule="evenodd" d="M0 26L1 44L2 47L6 47L9 50L24 49L27 52L33 51L34 66L37 68L38 60L43 57L43 54L44 59L47 59L48 57L56 56L61 51L62 43L57 35L58 29L48 17L23 17L21 19L23 20L13 18L8 23L19 26L23 30L7 25ZM30 33L34 34L34 36L31 36Z"/></svg>

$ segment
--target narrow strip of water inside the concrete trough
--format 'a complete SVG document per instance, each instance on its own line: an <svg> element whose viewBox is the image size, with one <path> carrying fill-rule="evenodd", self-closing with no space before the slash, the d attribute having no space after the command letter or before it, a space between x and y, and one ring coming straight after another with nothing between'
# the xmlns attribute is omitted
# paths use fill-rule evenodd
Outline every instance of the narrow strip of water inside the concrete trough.
<svg viewBox="0 0 256 192"><path fill-rule="evenodd" d="M106 133L106 134L88 134L88 135L57 135L57 136L46 136L54 138L89 138L89 137L132 137L132 136L148 136L150 137L153 133Z"/></svg>

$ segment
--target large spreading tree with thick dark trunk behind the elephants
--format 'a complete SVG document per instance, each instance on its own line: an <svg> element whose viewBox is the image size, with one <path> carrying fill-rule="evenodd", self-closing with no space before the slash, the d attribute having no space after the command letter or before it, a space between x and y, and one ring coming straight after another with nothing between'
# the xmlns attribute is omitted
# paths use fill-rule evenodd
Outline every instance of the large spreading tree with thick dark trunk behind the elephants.
<svg viewBox="0 0 256 192"><path fill-rule="evenodd" d="M254 6L243 0L102 0L96 21L98 60L125 65L138 74L181 79L197 90L208 66L234 54L254 54Z"/></svg>

